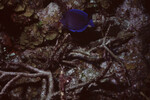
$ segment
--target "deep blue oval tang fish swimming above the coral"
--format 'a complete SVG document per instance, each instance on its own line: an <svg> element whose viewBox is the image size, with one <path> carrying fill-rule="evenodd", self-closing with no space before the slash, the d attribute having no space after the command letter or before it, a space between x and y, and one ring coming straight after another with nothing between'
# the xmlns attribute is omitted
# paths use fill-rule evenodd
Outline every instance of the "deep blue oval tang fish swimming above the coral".
<svg viewBox="0 0 150 100"><path fill-rule="evenodd" d="M67 11L60 22L72 32L83 32L88 25L94 27L93 20L89 18L88 14L78 9Z"/></svg>

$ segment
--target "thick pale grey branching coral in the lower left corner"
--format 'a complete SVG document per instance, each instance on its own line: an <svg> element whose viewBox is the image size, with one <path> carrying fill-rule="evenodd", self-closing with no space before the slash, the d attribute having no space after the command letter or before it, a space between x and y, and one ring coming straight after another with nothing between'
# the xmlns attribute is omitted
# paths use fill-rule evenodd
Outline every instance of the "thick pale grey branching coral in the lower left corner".
<svg viewBox="0 0 150 100"><path fill-rule="evenodd" d="M34 68L30 65L24 64L24 63L7 63L7 67L9 69L9 66L17 65L19 67L23 67L31 72L34 73L26 73L26 72L8 72L8 71L0 71L1 73L1 79L4 79L5 77L14 76L9 82L6 83L6 85L2 88L0 95L3 96L6 94L7 89L13 85L19 78L21 77L40 77L43 80L43 86L42 86L42 95L41 98L45 98L46 100L51 99L51 95L53 92L53 78L52 73L50 71L43 71L37 68ZM45 80L47 79L47 81ZM45 88L45 85L48 86ZM43 99L43 100L45 100ZM42 99L41 99L42 100Z"/></svg>

